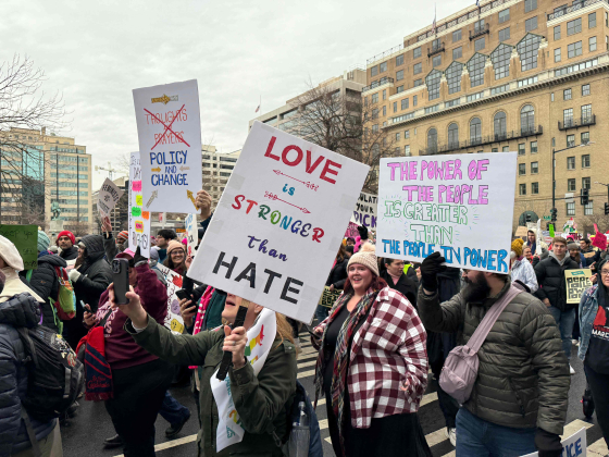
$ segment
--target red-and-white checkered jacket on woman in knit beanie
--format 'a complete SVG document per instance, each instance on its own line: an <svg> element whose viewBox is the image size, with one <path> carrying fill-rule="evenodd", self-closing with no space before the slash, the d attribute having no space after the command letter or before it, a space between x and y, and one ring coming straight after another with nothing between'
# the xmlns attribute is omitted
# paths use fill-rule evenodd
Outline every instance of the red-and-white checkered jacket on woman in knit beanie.
<svg viewBox="0 0 609 457"><path fill-rule="evenodd" d="M426 339L410 301L393 288L382 289L351 344L347 386L353 427L368 429L372 418L419 410L427 386Z"/></svg>

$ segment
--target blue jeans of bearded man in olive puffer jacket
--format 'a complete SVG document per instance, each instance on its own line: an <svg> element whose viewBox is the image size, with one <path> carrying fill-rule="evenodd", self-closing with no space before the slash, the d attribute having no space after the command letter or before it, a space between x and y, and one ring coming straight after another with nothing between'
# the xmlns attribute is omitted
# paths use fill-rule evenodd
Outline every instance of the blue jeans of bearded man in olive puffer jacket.
<svg viewBox="0 0 609 457"><path fill-rule="evenodd" d="M520 457L536 452L536 429L497 425L465 408L457 413L457 457Z"/></svg>

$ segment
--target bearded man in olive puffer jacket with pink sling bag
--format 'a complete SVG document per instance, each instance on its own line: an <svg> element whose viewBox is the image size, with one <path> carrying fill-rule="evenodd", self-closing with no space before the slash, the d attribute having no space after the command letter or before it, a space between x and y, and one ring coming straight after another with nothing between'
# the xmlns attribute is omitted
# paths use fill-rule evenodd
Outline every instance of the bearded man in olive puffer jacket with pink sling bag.
<svg viewBox="0 0 609 457"><path fill-rule="evenodd" d="M463 345L493 305L511 292L510 276L464 270L465 287L440 304L437 276L445 261L439 252L423 260L419 313L428 330L461 331L458 344ZM477 350L477 376L457 413L458 457L489 456L497 449L502 456L538 450L539 457L560 457L571 381L561 345L540 300L520 292L507 302Z"/></svg>

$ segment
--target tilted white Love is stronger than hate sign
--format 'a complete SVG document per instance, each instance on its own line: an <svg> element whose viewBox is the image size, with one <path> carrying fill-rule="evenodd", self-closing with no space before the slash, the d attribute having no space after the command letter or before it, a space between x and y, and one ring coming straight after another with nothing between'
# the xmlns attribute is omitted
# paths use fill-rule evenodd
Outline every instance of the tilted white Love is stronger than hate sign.
<svg viewBox="0 0 609 457"><path fill-rule="evenodd" d="M309 322L368 170L256 122L188 276Z"/></svg>

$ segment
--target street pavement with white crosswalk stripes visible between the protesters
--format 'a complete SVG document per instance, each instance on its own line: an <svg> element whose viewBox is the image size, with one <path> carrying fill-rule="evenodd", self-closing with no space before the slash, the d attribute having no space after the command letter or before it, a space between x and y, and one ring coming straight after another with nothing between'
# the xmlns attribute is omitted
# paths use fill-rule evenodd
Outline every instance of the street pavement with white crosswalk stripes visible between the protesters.
<svg viewBox="0 0 609 457"><path fill-rule="evenodd" d="M309 342L309 338L301 334L302 351L298 358L298 379L309 392L311 400L314 397L313 376L316 360L316 351ZM585 388L585 375L581 361L576 358L576 348L573 348L572 366L576 374L571 378L571 390L569 391L569 411L567 415L566 434L571 435L581 428L587 428L588 456L600 457L607 455L607 446L602 440L602 434L593 418L592 422L585 420L580 403ZM431 378L431 374L430 374ZM427 443L432 448L434 457L453 456L455 449L446 437L444 417L438 406L436 382L430 380L426 395L421 403L419 417ZM188 387L173 388L173 396L187 406L192 413L190 420L184 427L176 440L167 441L164 430L169 427L161 417L157 419L157 455L159 457L172 456L194 456L196 455L196 439L199 429L196 419L197 407ZM327 430L325 402L318 403L318 418L322 432L324 455L334 456L330 444L330 433ZM110 417L105 412L103 404L82 402L77 416L72 419L71 425L62 428L63 452L65 457L114 457L121 455L121 449L103 449L102 442L105 437L114 435L114 429Z"/></svg>

